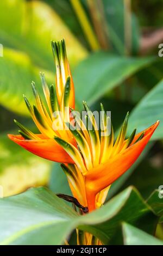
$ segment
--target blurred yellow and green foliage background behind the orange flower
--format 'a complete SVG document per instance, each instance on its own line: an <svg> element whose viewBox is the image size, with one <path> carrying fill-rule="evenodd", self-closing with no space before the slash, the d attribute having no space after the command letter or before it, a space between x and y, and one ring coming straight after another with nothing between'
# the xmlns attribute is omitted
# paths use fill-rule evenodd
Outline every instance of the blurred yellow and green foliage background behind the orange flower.
<svg viewBox="0 0 163 256"><path fill-rule="evenodd" d="M33 101L31 82L41 91L39 71L55 83L51 40L65 38L76 88L76 108L103 102L118 131L127 111L129 132L160 120L141 155L112 186L108 198L129 185L143 197L163 185L163 2L161 0L1 0L0 1L0 185L4 196L32 186L70 194L59 164L34 156L13 142L13 119L34 132L23 102ZM162 51L163 53L163 51ZM163 237L159 225L157 236Z"/></svg>

